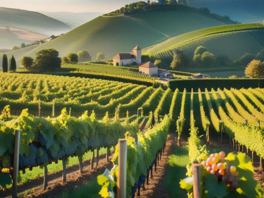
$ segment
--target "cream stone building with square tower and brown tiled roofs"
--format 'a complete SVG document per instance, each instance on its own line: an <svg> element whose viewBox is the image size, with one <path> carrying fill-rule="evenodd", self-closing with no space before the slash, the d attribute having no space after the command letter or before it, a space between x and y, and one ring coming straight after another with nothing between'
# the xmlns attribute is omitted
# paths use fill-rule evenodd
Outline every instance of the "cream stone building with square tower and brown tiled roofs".
<svg viewBox="0 0 264 198"><path fill-rule="evenodd" d="M133 65L133 64L139 65L139 64L141 64L141 49L137 45L132 50L132 52L118 53L113 58L113 64L115 66Z"/></svg>

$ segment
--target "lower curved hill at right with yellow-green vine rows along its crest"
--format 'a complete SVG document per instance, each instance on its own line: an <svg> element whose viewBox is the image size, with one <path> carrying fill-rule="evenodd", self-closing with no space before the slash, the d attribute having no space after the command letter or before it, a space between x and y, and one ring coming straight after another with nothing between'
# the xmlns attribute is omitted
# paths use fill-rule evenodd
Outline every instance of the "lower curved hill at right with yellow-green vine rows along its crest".
<svg viewBox="0 0 264 198"><path fill-rule="evenodd" d="M226 54L235 59L264 49L263 37L264 25L261 23L217 26L188 32L142 51L161 58L173 56L174 50L179 48L193 56L195 49L202 45L215 55Z"/></svg>

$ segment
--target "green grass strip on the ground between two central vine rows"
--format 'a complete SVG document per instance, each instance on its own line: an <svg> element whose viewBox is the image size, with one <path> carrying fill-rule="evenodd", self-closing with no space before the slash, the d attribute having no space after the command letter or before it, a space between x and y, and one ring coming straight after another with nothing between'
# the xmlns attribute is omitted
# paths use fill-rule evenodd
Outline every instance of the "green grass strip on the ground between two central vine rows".
<svg viewBox="0 0 264 198"><path fill-rule="evenodd" d="M186 198L187 192L180 188L179 182L186 177L185 173L188 163L188 146L178 147L176 144L172 144L164 180L164 186L171 197L177 195L177 198Z"/></svg>

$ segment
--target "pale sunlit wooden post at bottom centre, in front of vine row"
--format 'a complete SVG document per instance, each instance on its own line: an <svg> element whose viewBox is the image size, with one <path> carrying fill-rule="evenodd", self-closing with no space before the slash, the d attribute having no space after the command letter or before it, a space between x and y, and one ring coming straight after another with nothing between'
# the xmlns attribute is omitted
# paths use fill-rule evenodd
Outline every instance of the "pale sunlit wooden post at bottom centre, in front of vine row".
<svg viewBox="0 0 264 198"><path fill-rule="evenodd" d="M127 140L119 139L118 177L116 198L126 197L126 162L127 162Z"/></svg>

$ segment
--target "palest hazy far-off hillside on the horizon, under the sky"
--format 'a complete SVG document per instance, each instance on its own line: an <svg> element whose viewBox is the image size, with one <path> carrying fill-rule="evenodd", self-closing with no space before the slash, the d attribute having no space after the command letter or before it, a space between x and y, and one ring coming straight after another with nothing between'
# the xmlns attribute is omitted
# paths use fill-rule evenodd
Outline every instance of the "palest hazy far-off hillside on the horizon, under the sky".
<svg viewBox="0 0 264 198"><path fill-rule="evenodd" d="M49 17L55 18L59 21L62 21L71 27L78 27L104 14L103 12L39 12Z"/></svg>

